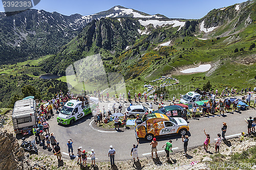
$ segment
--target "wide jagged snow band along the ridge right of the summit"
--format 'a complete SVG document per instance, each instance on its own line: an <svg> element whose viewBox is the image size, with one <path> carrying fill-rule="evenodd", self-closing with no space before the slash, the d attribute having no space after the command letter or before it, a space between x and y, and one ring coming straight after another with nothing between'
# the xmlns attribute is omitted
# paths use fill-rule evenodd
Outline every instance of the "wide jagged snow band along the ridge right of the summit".
<svg viewBox="0 0 256 170"><path fill-rule="evenodd" d="M156 28L156 26L163 26L163 25L173 25L172 27L180 27L178 31L185 25L185 22L178 21L178 20L156 20L156 19L148 19L148 20L141 20L139 19L139 22L142 26L147 26L150 24L153 24L153 26Z"/></svg>

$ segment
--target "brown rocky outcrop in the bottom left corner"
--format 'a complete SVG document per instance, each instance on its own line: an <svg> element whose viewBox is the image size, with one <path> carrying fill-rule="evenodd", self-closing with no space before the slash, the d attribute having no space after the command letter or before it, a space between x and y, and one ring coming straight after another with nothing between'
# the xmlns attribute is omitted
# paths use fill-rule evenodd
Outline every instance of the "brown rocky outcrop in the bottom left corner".
<svg viewBox="0 0 256 170"><path fill-rule="evenodd" d="M22 165L24 152L13 134L1 132L0 145L0 169L24 169Z"/></svg>

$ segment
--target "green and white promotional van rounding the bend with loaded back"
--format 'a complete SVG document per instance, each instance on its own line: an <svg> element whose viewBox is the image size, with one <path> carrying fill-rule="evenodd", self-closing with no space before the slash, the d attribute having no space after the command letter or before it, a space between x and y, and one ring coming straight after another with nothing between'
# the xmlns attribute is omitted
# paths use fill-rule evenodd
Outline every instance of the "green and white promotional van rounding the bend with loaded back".
<svg viewBox="0 0 256 170"><path fill-rule="evenodd" d="M57 122L62 125L72 125L77 119L92 113L92 110L99 105L98 98L90 97L92 101L88 105L83 105L81 101L68 101L60 110Z"/></svg>

